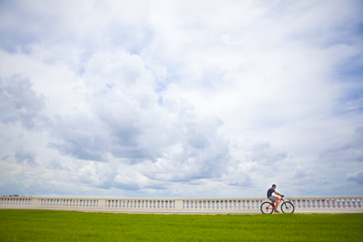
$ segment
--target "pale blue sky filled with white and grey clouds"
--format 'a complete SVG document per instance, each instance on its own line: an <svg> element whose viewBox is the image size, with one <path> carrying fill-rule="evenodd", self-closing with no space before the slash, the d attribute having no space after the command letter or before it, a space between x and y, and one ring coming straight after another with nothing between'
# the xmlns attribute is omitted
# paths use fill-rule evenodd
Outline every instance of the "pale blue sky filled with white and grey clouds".
<svg viewBox="0 0 363 242"><path fill-rule="evenodd" d="M0 195L362 195L362 11L1 1Z"/></svg>

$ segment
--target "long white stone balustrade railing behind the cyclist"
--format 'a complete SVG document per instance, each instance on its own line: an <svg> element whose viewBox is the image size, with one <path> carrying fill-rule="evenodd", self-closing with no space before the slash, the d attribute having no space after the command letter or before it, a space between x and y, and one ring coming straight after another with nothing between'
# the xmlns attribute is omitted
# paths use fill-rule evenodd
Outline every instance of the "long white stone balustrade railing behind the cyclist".
<svg viewBox="0 0 363 242"><path fill-rule="evenodd" d="M361 212L363 197L285 198L296 212ZM266 198L35 198L1 197L0 208L136 212L260 212Z"/></svg>

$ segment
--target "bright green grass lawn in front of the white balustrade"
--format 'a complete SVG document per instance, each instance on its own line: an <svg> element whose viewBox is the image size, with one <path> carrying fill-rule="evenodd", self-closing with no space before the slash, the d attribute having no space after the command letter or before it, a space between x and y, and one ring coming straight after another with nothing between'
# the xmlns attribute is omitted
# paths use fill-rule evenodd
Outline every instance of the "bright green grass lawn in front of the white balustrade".
<svg viewBox="0 0 363 242"><path fill-rule="evenodd" d="M0 209L0 241L362 241L363 214L155 215Z"/></svg>

